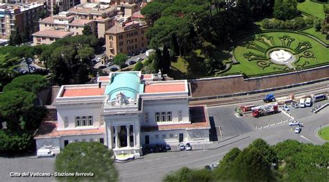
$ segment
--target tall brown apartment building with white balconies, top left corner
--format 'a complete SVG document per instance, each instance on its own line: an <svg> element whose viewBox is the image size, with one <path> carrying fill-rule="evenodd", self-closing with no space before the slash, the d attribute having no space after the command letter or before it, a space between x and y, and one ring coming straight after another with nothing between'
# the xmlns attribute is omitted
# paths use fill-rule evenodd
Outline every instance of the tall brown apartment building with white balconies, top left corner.
<svg viewBox="0 0 329 182"><path fill-rule="evenodd" d="M24 33L24 30L33 32L39 20L38 15L42 11L43 3L0 3L0 38L9 39L16 28L19 33Z"/></svg>

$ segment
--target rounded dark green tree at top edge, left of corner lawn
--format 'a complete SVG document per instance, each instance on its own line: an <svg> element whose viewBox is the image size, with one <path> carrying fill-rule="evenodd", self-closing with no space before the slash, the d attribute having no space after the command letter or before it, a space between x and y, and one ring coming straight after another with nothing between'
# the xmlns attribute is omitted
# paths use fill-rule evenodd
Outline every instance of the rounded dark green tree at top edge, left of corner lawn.
<svg viewBox="0 0 329 182"><path fill-rule="evenodd" d="M273 6L273 16L277 19L292 19L298 15L296 0L276 0Z"/></svg>

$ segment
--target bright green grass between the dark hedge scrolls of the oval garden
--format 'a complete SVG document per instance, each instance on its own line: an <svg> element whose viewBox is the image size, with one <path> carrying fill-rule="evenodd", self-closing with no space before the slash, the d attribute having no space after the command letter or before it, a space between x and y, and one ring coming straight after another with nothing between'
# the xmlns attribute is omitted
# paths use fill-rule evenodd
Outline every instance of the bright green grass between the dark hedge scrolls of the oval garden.
<svg viewBox="0 0 329 182"><path fill-rule="evenodd" d="M278 38L289 35L291 38L294 38L295 40L292 42L290 48L294 50L299 42L310 42L312 44L312 49L309 49L307 51L312 51L314 53L315 58L301 58L296 65L303 65L306 61L309 62L309 64L306 67L312 67L314 65L320 65L323 63L329 62L328 60L328 49L325 47L322 47L321 44L316 42L315 40L312 40L312 38L308 38L304 35L299 35L297 33L280 33L280 32L273 32L273 33L261 33L267 36L272 36L274 38L274 42L276 42L277 45L280 44L280 40ZM264 55L264 53L260 51L256 51L254 49L247 49L246 48L246 42L255 40L256 35L250 35L246 38L243 38L242 40L239 40L237 42L237 46L235 46L235 59L239 61L239 64L233 65L231 69L228 70L228 72L225 72L224 74L234 74L239 72L244 72L247 76L255 76L258 74L275 74L276 72L282 72L280 70L275 70L274 68L278 69L285 69L285 65L275 65L271 64L269 67L265 67L262 69L261 67L258 67L256 63L257 60L251 60L248 61L246 58L244 58L244 53L253 52L260 55ZM258 43L258 45L262 45L261 43ZM299 53L301 56L301 53ZM306 68L304 67L304 68Z"/></svg>

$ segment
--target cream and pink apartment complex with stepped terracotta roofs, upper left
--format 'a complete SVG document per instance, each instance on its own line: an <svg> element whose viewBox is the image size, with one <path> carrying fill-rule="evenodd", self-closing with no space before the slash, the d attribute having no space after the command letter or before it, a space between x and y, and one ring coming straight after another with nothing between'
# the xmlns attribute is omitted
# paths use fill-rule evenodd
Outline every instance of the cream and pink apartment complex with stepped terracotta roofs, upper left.
<svg viewBox="0 0 329 182"><path fill-rule="evenodd" d="M98 38L104 38L105 31L112 26L114 22L112 19L116 14L115 8L99 3L75 6L58 13L58 15L41 19L39 21L40 31L33 34L33 44L51 44L58 38L82 35L85 25L90 26ZM67 33L63 33L63 31ZM52 32L53 35L48 34L49 32Z"/></svg>

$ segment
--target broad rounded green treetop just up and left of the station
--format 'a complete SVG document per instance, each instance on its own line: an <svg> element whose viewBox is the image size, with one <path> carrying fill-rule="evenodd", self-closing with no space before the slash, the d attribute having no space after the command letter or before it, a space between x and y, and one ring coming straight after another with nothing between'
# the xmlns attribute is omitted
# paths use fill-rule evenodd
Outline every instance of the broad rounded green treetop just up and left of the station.
<svg viewBox="0 0 329 182"><path fill-rule="evenodd" d="M8 83L8 85L3 88L3 91L8 92L10 90L21 89L26 92L37 94L37 92L48 87L49 81L47 81L44 76L40 74L29 74L14 78L11 83Z"/></svg>

